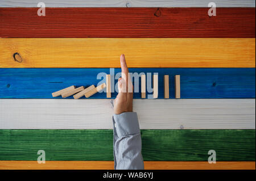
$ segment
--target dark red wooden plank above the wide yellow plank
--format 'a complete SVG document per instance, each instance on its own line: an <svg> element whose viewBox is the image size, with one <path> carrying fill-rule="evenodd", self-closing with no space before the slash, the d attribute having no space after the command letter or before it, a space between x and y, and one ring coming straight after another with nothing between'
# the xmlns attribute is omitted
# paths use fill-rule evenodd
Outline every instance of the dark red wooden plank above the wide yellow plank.
<svg viewBox="0 0 256 181"><path fill-rule="evenodd" d="M255 8L0 8L0 37L255 37Z"/></svg>

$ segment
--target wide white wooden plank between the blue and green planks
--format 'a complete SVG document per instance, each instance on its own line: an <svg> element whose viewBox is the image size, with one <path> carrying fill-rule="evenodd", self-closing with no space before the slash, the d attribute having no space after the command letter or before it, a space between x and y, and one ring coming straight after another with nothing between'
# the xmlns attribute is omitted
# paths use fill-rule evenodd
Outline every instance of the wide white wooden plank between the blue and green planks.
<svg viewBox="0 0 256 181"><path fill-rule="evenodd" d="M113 129L110 99L0 99L0 129ZM255 99L135 99L141 129L255 129Z"/></svg>

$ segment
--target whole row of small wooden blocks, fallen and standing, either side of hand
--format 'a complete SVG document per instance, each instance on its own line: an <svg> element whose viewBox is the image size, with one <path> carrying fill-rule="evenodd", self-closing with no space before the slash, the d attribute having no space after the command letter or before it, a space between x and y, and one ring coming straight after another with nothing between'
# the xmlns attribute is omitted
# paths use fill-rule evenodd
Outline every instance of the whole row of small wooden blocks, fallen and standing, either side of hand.
<svg viewBox="0 0 256 181"><path fill-rule="evenodd" d="M111 77L106 75L106 84L102 83L100 86L95 87L94 85L87 87L84 86L75 87L70 86L65 89L53 92L52 96L62 96L67 98L68 96L73 95L74 99L79 99L82 96L89 98L90 96L96 94L97 92L105 89L106 87L106 97L111 98ZM74 95L75 94L75 95ZM146 98L146 75L141 75L141 98ZM158 98L158 75L153 75L153 98ZM164 98L169 99L169 75L164 75ZM175 75L175 98L180 98L180 75Z"/></svg>

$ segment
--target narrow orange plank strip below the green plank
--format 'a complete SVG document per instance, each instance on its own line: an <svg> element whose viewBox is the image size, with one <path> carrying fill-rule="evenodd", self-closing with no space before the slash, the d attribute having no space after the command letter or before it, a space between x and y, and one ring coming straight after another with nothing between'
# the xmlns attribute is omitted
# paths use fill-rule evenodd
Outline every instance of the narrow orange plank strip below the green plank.
<svg viewBox="0 0 256 181"><path fill-rule="evenodd" d="M1 170L113 170L113 161L0 161ZM145 170L255 170L255 162L144 161Z"/></svg>

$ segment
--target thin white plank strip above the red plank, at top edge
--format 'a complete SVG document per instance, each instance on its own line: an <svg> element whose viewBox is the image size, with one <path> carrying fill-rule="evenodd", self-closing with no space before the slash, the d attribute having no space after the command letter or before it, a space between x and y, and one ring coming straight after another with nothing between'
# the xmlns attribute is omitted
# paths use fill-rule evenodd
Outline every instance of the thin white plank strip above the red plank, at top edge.
<svg viewBox="0 0 256 181"><path fill-rule="evenodd" d="M47 7L208 7L205 0L44 0ZM217 7L255 7L255 0L215 0ZM1 0L0 7L37 7L34 0Z"/></svg>

